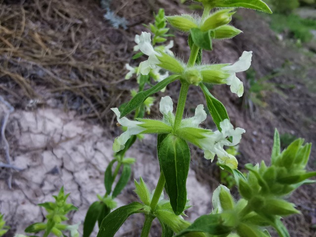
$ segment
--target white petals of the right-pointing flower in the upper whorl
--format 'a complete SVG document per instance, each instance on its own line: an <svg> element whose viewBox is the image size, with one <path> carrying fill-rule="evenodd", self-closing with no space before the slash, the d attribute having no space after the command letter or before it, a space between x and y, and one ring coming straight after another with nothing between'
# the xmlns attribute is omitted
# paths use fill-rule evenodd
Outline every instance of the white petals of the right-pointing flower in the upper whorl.
<svg viewBox="0 0 316 237"><path fill-rule="evenodd" d="M231 74L231 76L226 79L226 84L231 86L231 91L236 93L238 97L241 97L243 94L243 84L241 80L236 77L236 73L244 72L249 69L251 65L251 57L252 51L244 51L236 63L222 68Z"/></svg>

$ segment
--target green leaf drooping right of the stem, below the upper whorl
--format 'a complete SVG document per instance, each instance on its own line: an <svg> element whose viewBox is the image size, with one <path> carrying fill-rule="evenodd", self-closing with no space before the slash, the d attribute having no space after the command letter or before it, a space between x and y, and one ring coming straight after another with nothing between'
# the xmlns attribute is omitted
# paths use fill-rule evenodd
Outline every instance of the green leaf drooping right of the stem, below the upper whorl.
<svg viewBox="0 0 316 237"><path fill-rule="evenodd" d="M199 86L204 93L206 105L209 113L213 118L214 123L216 124L218 130L222 131L222 128L220 127L220 122L224 121L224 119L229 120L225 106L208 91L207 87L203 83L200 83Z"/></svg>

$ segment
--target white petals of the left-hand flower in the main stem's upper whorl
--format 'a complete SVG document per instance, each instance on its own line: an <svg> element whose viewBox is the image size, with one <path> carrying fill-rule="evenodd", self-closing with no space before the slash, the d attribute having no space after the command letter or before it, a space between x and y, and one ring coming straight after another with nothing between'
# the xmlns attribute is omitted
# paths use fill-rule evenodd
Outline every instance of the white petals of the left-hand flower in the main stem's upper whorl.
<svg viewBox="0 0 316 237"><path fill-rule="evenodd" d="M144 54L148 56L148 60L141 62L138 67L137 75L141 73L142 75L148 75L151 69L156 68L156 64L159 64L160 61L157 58L157 55L160 55L155 51L153 45L151 44L151 35L147 32L142 32L139 37L139 49Z"/></svg>

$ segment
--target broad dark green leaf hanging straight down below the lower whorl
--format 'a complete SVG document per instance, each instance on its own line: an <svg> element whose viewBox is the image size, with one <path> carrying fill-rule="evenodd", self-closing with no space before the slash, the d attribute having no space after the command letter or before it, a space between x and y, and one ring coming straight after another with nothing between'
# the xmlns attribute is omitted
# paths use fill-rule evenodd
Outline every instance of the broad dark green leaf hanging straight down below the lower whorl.
<svg viewBox="0 0 316 237"><path fill-rule="evenodd" d="M187 202L186 181L191 159L189 146L181 138L169 134L160 145L158 158L172 210L180 215Z"/></svg>

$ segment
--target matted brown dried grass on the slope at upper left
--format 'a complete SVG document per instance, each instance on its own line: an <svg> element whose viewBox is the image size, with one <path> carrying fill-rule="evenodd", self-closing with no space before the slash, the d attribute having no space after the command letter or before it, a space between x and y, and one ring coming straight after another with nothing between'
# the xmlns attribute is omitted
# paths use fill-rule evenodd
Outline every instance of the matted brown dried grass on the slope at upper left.
<svg viewBox="0 0 316 237"><path fill-rule="evenodd" d="M143 1L141 12L140 4L114 9L138 26L151 15L150 4ZM69 108L104 121L126 89L122 68L135 32L113 29L103 14L97 1L0 1L0 90L23 103L42 98L35 88L44 85Z"/></svg>

